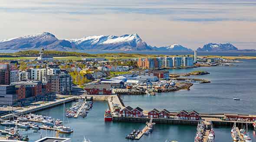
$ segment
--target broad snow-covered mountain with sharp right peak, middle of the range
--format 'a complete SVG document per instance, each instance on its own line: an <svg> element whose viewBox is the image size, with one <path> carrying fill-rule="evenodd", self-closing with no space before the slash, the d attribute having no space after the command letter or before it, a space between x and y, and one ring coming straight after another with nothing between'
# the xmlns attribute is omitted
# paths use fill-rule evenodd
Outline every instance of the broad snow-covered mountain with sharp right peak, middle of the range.
<svg viewBox="0 0 256 142"><path fill-rule="evenodd" d="M152 50L138 34L87 36L82 39L67 40L82 50Z"/></svg>

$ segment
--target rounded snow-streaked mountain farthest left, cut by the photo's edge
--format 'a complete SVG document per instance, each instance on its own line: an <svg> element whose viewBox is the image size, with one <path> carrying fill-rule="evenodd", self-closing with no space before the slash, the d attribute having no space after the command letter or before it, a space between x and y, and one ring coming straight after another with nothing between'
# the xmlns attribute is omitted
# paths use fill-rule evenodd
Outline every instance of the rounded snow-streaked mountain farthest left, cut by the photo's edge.
<svg viewBox="0 0 256 142"><path fill-rule="evenodd" d="M75 45L72 45L69 41L59 40L55 35L49 32L0 41L1 50L39 50L41 48L60 51L77 49Z"/></svg>

